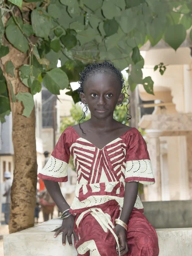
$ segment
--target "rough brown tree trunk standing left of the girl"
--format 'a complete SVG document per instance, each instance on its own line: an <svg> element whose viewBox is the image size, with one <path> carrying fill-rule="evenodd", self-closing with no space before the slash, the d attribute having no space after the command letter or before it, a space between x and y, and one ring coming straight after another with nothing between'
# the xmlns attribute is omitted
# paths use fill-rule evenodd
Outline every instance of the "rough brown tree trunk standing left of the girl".
<svg viewBox="0 0 192 256"><path fill-rule="evenodd" d="M18 39L19 40L19 39ZM15 169L11 189L11 213L9 232L15 233L34 226L34 209L37 185L37 155L35 141L35 108L26 118L22 115L23 104L12 102L9 80L12 81L14 93L29 92L19 79L18 67L27 64L27 55L12 47L9 42L9 54L1 58L0 67L6 77L9 99L12 110L12 142L14 148ZM15 66L15 78L6 74L7 61Z"/></svg>

